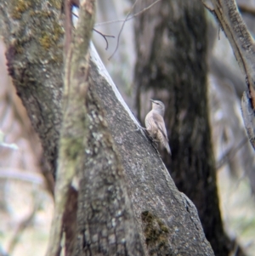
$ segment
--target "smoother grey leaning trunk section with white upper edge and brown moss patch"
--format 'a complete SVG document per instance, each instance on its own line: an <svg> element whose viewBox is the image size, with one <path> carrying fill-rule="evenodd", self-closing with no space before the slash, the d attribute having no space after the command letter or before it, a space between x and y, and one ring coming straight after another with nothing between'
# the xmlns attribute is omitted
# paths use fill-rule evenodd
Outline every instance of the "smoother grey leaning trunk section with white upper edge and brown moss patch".
<svg viewBox="0 0 255 256"><path fill-rule="evenodd" d="M150 141L135 131L137 122L133 114L105 73L99 56L94 50L92 54L90 75L122 157L135 219L147 253L213 255L201 233L193 203L177 191Z"/></svg>

